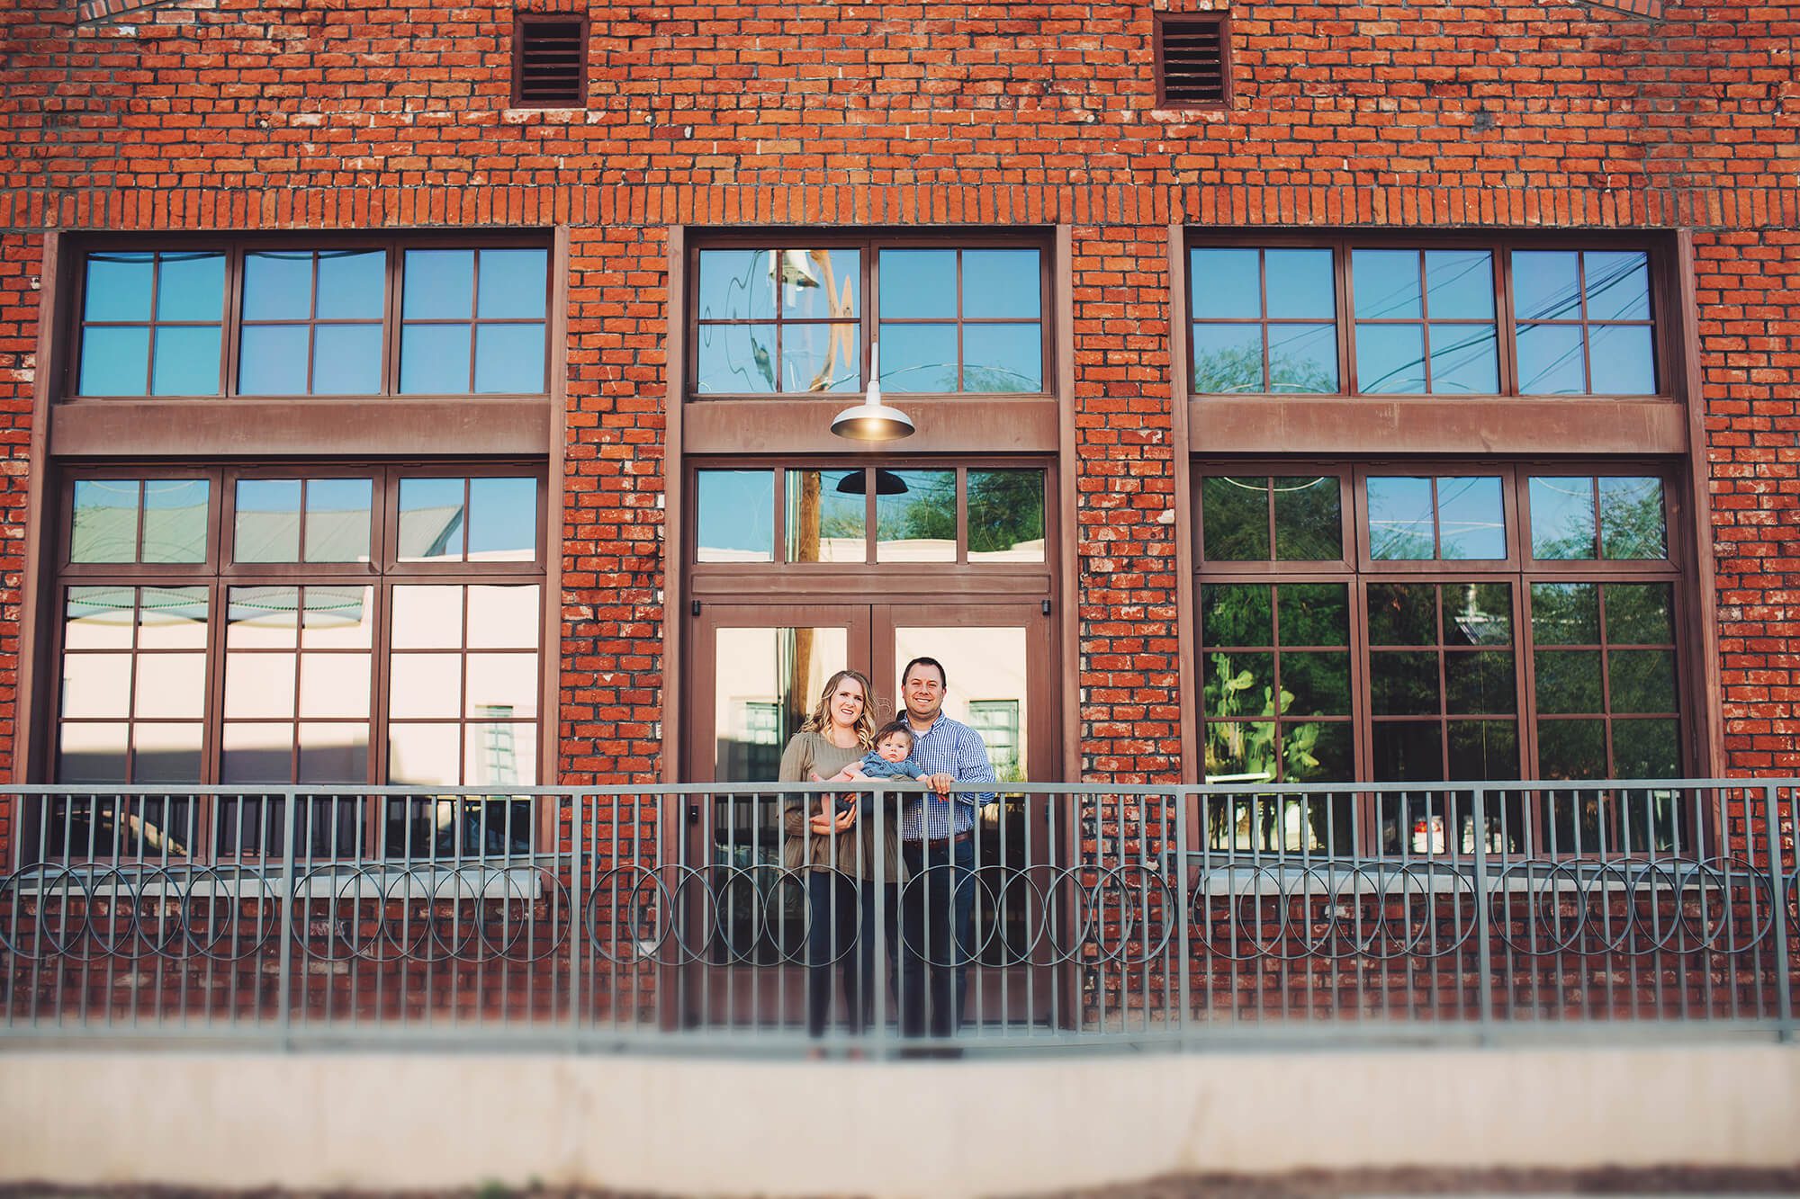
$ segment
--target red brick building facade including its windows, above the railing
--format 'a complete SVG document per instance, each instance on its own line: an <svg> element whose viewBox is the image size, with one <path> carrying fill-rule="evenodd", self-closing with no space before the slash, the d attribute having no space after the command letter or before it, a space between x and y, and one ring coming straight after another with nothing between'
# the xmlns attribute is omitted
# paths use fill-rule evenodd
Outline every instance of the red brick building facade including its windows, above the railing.
<svg viewBox="0 0 1800 1199"><path fill-rule="evenodd" d="M769 778L936 650L1033 780L1791 774L1796 40L16 0L0 754Z"/></svg>

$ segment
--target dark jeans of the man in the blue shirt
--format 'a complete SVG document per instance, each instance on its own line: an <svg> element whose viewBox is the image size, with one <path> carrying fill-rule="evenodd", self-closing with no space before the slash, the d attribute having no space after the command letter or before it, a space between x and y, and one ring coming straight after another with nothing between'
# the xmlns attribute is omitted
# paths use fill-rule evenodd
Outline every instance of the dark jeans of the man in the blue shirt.
<svg viewBox="0 0 1800 1199"><path fill-rule="evenodd" d="M974 945L976 888L958 882L976 868L976 843L972 837L932 846L902 841L900 857L905 866L900 934L889 938L898 951L900 1033L923 1035L929 1014L931 1035L949 1037L963 1026L968 988L965 960Z"/></svg>

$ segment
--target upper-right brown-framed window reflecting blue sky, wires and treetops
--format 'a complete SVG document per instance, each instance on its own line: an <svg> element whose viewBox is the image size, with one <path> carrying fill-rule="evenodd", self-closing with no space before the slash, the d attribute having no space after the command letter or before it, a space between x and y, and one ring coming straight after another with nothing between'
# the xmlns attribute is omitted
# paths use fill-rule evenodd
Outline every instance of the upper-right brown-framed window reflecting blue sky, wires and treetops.
<svg viewBox="0 0 1800 1199"><path fill-rule="evenodd" d="M1195 394L1667 396L1660 245L1195 234Z"/></svg>

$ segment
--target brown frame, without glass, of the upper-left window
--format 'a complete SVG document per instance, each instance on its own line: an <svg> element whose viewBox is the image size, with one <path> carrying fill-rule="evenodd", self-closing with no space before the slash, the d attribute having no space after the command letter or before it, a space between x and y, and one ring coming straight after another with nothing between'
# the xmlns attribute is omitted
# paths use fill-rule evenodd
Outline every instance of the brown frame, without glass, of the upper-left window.
<svg viewBox="0 0 1800 1199"><path fill-rule="evenodd" d="M475 329L482 324L542 324L544 326L544 389L531 392L475 392L475 391L457 391L457 392L407 392L400 391L400 340L401 331L407 324L430 324L430 320L403 320L401 301L405 290L405 252L407 250L509 250L509 248L531 248L544 250L545 270L544 270L544 319L481 319L470 317L470 338L473 346ZM299 250L382 250L387 256L385 261L385 279L383 279L383 297L382 297L382 383L378 391L356 392L356 394L311 394L311 392L284 392L284 394L261 394L261 392L243 392L239 389L239 362L243 351L243 274L245 274L245 256L256 252L299 252ZM225 254L225 310L223 310L223 328L220 337L220 389L205 394L83 394L77 391L81 374L81 346L83 333L90 326L117 326L117 324L140 324L140 322L88 322L83 320L83 308L86 302L86 259L90 254L126 254L126 252L220 252ZM382 400L544 400L553 389L553 337L556 328L556 250L549 234L536 232L488 232L488 230L434 230L405 236L369 236L369 234L243 234L232 238L205 236L205 238L92 238L83 239L70 257L70 288L68 288L68 338L67 353L59 364L58 371L58 398L63 403L104 403L104 401L137 401L137 403L189 403L189 401L236 401L236 400L254 400L254 401L293 401L293 403L329 403L358 398L382 398ZM313 265L317 279L317 259ZM479 265L477 265L479 270ZM472 292L473 292L472 283ZM315 292L317 304L317 292ZM441 320L441 322L448 322ZM211 322L207 322L211 324ZM272 320L261 322L252 320L250 326L268 326L284 324L295 326L304 324L310 329L308 346L311 346L311 337L319 324L340 324L335 320L319 320L310 317L308 320ZM356 322L351 322L356 324ZM373 322L362 322L373 324ZM455 322L459 324L459 322ZM160 326L151 326L160 328ZM155 358L155 346L151 347L151 360ZM153 369L153 367L151 367ZM475 358L470 355L470 387L473 387ZM311 360L308 360L308 385L311 385Z"/></svg>

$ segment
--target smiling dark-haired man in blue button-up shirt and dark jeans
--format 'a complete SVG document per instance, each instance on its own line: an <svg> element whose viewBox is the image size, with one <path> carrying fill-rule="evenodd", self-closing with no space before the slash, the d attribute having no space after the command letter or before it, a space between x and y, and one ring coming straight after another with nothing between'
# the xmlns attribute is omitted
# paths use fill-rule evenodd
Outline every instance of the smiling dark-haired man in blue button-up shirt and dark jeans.
<svg viewBox="0 0 1800 1199"><path fill-rule="evenodd" d="M927 997L934 1037L949 1037L963 1023L963 960L974 945L976 886L958 884L976 868L977 808L995 799L992 790L950 794L956 785L992 783L994 765L981 735L943 715L947 682L934 657L914 657L900 672L913 760L931 789L900 808L900 857L909 882L900 936L893 940L900 958L900 1032L907 1037L925 1032Z"/></svg>

